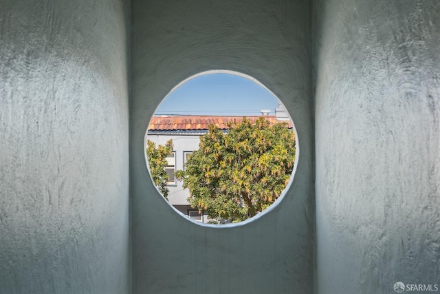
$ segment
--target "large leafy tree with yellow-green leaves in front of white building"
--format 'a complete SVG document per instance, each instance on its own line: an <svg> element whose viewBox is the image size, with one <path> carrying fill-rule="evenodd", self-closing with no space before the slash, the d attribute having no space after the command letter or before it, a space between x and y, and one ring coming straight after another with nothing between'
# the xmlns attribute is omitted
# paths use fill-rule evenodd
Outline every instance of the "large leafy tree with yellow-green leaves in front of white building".
<svg viewBox="0 0 440 294"><path fill-rule="evenodd" d="M295 136L287 123L243 118L228 127L224 134L209 125L185 170L177 171L191 207L217 223L241 222L269 207L289 182L295 160Z"/></svg>

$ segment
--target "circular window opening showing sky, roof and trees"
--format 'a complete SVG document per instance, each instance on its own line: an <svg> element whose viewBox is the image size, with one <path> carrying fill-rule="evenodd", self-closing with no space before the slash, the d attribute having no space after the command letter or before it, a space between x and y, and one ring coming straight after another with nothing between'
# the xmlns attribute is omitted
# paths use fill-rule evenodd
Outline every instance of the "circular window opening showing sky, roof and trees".
<svg viewBox="0 0 440 294"><path fill-rule="evenodd" d="M158 191L200 224L242 222L292 182L294 125L250 76L204 72L177 85L148 124L146 162Z"/></svg>

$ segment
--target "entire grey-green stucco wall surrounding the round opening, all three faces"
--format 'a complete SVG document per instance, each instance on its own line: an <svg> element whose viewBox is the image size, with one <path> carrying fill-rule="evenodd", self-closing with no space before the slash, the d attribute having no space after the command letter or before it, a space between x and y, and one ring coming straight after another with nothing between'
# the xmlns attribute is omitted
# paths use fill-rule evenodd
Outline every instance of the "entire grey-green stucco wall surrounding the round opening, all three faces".
<svg viewBox="0 0 440 294"><path fill-rule="evenodd" d="M0 7L0 293L440 284L439 1ZM145 164L155 107L206 70L259 80L298 135L279 205L235 227L184 219Z"/></svg>

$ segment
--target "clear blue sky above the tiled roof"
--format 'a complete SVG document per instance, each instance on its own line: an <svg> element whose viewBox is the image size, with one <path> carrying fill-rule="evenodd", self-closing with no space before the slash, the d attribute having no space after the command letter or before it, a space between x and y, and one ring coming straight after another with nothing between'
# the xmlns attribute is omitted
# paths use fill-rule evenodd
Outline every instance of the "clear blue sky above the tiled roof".
<svg viewBox="0 0 440 294"><path fill-rule="evenodd" d="M184 83L169 94L155 115L261 115L278 107L278 99L248 78L233 74L206 74Z"/></svg>

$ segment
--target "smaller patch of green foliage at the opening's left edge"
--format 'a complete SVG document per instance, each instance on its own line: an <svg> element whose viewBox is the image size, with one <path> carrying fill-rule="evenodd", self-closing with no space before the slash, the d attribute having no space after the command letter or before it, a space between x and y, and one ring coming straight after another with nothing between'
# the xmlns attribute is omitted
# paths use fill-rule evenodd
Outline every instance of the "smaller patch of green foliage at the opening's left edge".
<svg viewBox="0 0 440 294"><path fill-rule="evenodd" d="M147 140L146 145L146 156L150 166L151 177L157 189L168 200L169 190L166 187L168 174L166 174L165 167L167 165L166 156L173 152L173 140L166 141L165 145L157 145L157 148L151 140Z"/></svg>

